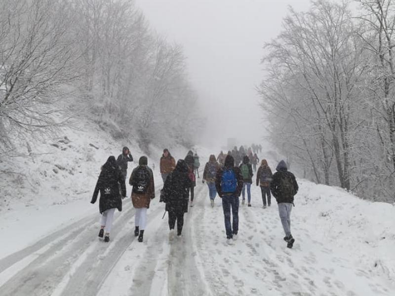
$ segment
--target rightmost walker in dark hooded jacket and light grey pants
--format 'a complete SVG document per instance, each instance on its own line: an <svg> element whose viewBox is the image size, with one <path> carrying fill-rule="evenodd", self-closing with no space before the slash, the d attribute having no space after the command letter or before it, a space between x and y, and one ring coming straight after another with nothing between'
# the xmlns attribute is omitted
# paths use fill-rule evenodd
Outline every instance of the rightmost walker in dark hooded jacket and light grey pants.
<svg viewBox="0 0 395 296"><path fill-rule="evenodd" d="M270 189L278 204L278 214L285 232L284 240L287 242L287 247L292 248L295 239L291 234L291 210L294 195L298 192L299 187L295 176L288 172L285 161L281 160L278 163L276 171Z"/></svg>

